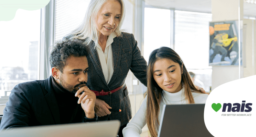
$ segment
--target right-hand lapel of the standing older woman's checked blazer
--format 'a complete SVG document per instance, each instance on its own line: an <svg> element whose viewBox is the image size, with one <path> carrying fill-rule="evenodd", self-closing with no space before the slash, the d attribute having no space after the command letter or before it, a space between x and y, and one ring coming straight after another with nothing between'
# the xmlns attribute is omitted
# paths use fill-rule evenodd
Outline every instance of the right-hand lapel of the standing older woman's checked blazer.
<svg viewBox="0 0 256 137"><path fill-rule="evenodd" d="M118 40L118 37L115 37L111 45L112 45L112 52L113 52L113 59L114 59L114 73L108 85L111 85L119 74L120 59L121 59L120 52L121 52L122 42Z"/></svg>

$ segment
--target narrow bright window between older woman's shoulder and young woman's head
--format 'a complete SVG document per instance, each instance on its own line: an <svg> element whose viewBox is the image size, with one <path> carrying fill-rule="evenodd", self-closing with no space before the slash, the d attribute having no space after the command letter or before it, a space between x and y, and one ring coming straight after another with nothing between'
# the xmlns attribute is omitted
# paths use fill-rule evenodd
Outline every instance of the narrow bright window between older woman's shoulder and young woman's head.
<svg viewBox="0 0 256 137"><path fill-rule="evenodd" d="M148 62L153 50L171 47L171 11L156 8L144 11L144 58Z"/></svg>

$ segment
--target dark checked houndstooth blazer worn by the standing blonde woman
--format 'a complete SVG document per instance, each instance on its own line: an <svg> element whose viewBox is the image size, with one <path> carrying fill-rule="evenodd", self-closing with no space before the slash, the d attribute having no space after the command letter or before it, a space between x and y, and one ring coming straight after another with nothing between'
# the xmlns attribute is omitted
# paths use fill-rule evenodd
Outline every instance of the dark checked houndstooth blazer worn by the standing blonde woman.
<svg viewBox="0 0 256 137"><path fill-rule="evenodd" d="M69 35L62 40L68 40L71 37L72 35ZM129 70L131 70L142 84L147 86L147 62L141 55L134 35L122 32L121 36L114 38L111 45L114 58L114 73L109 84L107 84L99 62L97 50L94 48L95 43L94 41L89 43L90 53L87 57L89 65L87 86L95 91L116 89L125 83ZM128 97L128 90L125 87L109 96L96 96L98 99L104 100L111 108L122 110L121 112L112 112L110 115L99 117L99 121L119 120L121 126L129 122L131 119L131 104Z"/></svg>

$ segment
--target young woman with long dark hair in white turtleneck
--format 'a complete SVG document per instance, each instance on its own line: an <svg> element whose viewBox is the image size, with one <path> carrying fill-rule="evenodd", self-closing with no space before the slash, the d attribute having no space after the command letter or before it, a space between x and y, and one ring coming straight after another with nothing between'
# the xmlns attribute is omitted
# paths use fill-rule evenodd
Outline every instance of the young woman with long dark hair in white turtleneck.
<svg viewBox="0 0 256 137"><path fill-rule="evenodd" d="M168 47L151 52L147 88L139 111L123 129L125 137L140 137L146 124L151 137L157 137L163 104L205 103L208 97L194 86L180 56Z"/></svg>

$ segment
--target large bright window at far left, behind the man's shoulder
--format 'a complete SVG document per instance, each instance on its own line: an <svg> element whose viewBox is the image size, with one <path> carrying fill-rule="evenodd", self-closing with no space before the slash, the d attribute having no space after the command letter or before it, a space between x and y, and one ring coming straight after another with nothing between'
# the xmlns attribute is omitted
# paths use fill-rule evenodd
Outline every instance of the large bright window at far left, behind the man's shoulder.
<svg viewBox="0 0 256 137"><path fill-rule="evenodd" d="M13 20L0 22L0 96L38 79L40 21L41 10L19 9Z"/></svg>

